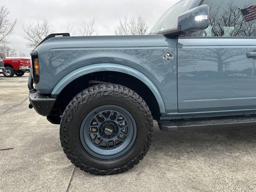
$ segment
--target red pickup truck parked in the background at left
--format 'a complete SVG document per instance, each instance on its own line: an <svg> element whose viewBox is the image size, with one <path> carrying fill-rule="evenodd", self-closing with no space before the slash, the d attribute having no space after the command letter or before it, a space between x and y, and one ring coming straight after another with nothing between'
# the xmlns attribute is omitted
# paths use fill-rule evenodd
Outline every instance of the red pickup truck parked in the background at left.
<svg viewBox="0 0 256 192"><path fill-rule="evenodd" d="M30 71L30 58L18 58L10 57L6 58L3 53L0 52L0 58L4 61L4 76L13 77L22 76L25 72Z"/></svg>

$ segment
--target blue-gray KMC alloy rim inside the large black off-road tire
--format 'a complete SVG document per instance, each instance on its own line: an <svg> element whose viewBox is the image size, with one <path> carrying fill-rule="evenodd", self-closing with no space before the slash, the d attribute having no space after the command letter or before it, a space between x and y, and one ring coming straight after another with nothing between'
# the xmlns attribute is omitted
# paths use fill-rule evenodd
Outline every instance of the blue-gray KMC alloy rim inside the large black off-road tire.
<svg viewBox="0 0 256 192"><path fill-rule="evenodd" d="M114 159L125 154L134 144L136 134L136 123L130 112L116 105L92 110L80 128L82 145L100 159Z"/></svg>

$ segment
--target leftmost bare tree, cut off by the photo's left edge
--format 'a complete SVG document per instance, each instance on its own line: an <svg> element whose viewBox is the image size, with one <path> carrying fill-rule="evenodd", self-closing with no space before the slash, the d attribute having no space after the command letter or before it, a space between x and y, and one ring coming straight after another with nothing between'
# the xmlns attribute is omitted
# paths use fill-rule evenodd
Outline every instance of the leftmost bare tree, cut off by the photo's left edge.
<svg viewBox="0 0 256 192"><path fill-rule="evenodd" d="M0 44L8 43L8 38L13 34L14 26L17 19L14 22L10 22L8 19L8 10L5 6L0 7Z"/></svg>

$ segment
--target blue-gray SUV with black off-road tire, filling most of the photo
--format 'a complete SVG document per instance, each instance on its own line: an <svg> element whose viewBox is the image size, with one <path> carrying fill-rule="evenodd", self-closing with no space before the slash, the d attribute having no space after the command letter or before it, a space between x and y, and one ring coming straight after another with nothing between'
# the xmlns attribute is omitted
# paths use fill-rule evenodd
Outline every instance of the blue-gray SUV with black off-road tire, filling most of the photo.
<svg viewBox="0 0 256 192"><path fill-rule="evenodd" d="M124 172L163 131L256 122L256 0L181 0L144 36L47 36L30 108L60 124L70 161ZM35 88L34 88L35 84Z"/></svg>

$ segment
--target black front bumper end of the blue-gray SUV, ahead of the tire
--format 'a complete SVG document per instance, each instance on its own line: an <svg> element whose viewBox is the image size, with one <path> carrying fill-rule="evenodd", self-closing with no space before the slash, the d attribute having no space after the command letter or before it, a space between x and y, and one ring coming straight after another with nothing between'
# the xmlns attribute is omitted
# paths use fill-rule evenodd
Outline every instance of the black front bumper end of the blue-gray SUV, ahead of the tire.
<svg viewBox="0 0 256 192"><path fill-rule="evenodd" d="M30 92L29 101L36 110L36 112L42 116L48 116L52 110L52 107L56 99L41 94L36 90L35 92Z"/></svg>

